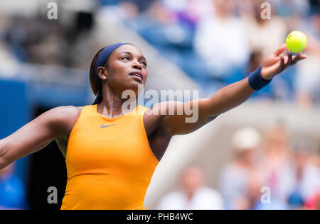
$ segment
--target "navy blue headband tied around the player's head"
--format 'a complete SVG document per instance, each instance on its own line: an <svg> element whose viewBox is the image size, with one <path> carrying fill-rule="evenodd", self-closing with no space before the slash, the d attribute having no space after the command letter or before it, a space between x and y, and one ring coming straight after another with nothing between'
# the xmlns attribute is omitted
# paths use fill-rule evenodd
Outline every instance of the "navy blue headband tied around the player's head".
<svg viewBox="0 0 320 224"><path fill-rule="evenodd" d="M97 97L95 99L95 102L93 102L92 105L99 104L102 101L102 83L99 75L97 74L97 68L104 67L111 53L122 45L133 45L133 44L132 43L115 43L113 45L105 47L105 49L103 49L102 52L100 52L99 56L97 57L93 71L95 72L94 74L95 84L97 86L98 91L97 91Z"/></svg>

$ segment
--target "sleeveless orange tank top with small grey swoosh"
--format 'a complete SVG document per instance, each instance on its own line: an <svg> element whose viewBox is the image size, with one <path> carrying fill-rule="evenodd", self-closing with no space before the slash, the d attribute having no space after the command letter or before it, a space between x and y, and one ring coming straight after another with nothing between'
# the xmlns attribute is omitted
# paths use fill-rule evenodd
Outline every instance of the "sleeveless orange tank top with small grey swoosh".
<svg viewBox="0 0 320 224"><path fill-rule="evenodd" d="M84 106L70 133L68 181L61 209L146 209L158 160L144 130L144 106L117 118Z"/></svg>

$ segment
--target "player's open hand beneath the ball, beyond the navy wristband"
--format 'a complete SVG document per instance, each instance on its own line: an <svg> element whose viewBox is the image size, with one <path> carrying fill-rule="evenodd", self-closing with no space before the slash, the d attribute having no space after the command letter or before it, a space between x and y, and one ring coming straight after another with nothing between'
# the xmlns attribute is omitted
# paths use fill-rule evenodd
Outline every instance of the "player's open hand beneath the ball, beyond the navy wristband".
<svg viewBox="0 0 320 224"><path fill-rule="evenodd" d="M287 51L287 55L281 55L286 49L287 45L284 44L271 55L265 57L261 66L262 78L270 80L277 74L281 73L284 69L287 69L290 65L296 64L299 60L306 59L306 55L302 55L301 52L292 57L292 52L289 52L289 50Z"/></svg>

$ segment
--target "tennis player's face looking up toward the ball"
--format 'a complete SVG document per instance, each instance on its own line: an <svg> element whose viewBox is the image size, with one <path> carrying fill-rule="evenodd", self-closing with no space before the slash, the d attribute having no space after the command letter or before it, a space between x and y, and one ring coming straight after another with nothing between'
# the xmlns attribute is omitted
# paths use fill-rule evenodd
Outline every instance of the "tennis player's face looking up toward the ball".
<svg viewBox="0 0 320 224"><path fill-rule="evenodd" d="M107 69L108 86L113 91L132 90L138 93L138 85L145 84L148 77L146 58L134 45L122 45L109 57Z"/></svg>

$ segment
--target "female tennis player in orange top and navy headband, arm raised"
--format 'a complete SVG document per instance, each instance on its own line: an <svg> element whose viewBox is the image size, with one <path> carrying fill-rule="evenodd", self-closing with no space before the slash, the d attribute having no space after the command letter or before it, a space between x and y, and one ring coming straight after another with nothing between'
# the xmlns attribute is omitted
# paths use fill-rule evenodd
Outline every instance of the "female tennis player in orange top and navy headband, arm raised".
<svg viewBox="0 0 320 224"><path fill-rule="evenodd" d="M136 102L136 108L122 113L126 101L122 92L129 89L138 95L138 85L146 83L146 58L129 43L104 47L90 67L95 103L53 108L0 140L0 169L55 140L68 172L61 209L146 209L146 189L172 136L201 128L306 58L301 53L282 55L284 50L286 45L267 56L248 77L210 98L185 102L191 108L198 103L198 121L186 123L186 113L169 115L182 102L165 101L152 108ZM164 108L167 111L161 111Z"/></svg>

